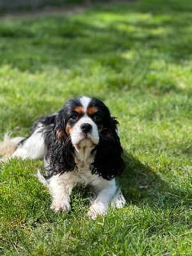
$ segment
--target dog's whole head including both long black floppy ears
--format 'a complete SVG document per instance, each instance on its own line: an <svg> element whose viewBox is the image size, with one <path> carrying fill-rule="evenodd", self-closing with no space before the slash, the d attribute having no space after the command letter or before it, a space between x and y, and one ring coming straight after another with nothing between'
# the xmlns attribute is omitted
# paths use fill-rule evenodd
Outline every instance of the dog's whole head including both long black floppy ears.
<svg viewBox="0 0 192 256"><path fill-rule="evenodd" d="M56 116L48 154L52 172L74 170L74 156L82 148L88 148L90 154L94 154L90 163L93 174L102 175L104 179L118 175L124 168L124 161L117 124L109 109L98 99L78 97L68 100Z"/></svg>

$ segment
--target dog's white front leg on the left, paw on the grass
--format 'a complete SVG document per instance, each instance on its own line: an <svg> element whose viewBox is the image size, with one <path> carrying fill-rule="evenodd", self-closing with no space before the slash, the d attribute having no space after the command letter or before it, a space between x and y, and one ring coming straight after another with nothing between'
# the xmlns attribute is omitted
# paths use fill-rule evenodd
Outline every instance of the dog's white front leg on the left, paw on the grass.
<svg viewBox="0 0 192 256"><path fill-rule="evenodd" d="M63 175L54 175L49 180L49 191L52 196L51 209L55 212L70 211L70 193L73 184L67 179L63 179Z"/></svg>

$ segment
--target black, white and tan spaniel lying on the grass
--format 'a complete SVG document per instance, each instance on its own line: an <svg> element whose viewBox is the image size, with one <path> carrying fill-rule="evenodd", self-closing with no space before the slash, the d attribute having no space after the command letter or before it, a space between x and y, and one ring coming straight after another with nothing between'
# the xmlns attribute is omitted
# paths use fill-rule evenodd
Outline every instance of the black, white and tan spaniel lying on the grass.
<svg viewBox="0 0 192 256"><path fill-rule="evenodd" d="M3 160L44 159L46 177L38 172L38 178L48 186L55 212L69 212L72 188L89 184L95 198L88 216L95 220L106 214L109 205L125 204L115 180L125 167L117 125L102 101L81 96L36 120L30 136L10 140L6 136L1 153L6 155Z"/></svg>

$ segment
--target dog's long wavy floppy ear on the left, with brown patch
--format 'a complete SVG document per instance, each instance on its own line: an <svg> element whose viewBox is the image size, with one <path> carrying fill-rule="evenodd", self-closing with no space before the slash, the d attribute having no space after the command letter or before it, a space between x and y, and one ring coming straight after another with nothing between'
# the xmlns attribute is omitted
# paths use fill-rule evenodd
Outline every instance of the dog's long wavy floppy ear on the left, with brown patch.
<svg viewBox="0 0 192 256"><path fill-rule="evenodd" d="M62 111L56 116L54 129L49 139L46 160L49 164L47 170L50 175L73 171L75 168L75 161L72 155L73 147L70 137L65 131L65 118Z"/></svg>

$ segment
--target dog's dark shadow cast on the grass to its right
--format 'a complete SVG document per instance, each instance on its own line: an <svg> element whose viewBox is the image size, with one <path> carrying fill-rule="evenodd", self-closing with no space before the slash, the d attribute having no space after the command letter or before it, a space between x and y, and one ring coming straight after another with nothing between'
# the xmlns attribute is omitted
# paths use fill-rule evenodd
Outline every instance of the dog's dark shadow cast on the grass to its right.
<svg viewBox="0 0 192 256"><path fill-rule="evenodd" d="M169 183L157 175L150 166L141 163L124 152L125 172L118 179L127 205L148 205L152 209L172 209L185 204L190 207L192 195L189 191Z"/></svg>

